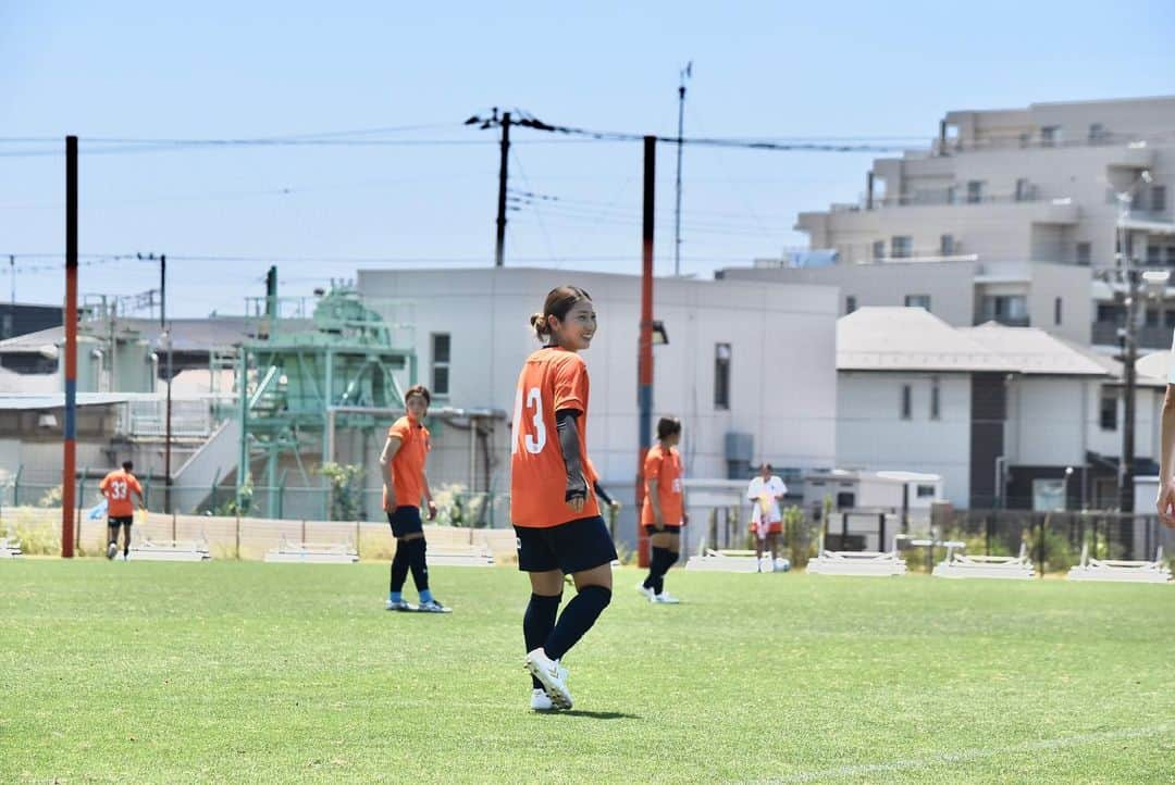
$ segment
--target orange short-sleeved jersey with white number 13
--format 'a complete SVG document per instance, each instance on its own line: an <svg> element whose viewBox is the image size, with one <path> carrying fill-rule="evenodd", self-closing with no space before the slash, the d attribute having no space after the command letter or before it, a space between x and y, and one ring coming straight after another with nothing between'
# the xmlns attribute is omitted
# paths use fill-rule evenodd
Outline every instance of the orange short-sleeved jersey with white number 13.
<svg viewBox="0 0 1175 785"><path fill-rule="evenodd" d="M599 515L592 490L596 469L588 460L588 387L583 358L565 348L540 348L522 366L510 437L510 520L515 526L548 528ZM555 413L562 410L580 412L576 429L588 499L578 513L563 498L568 472L555 431Z"/></svg>

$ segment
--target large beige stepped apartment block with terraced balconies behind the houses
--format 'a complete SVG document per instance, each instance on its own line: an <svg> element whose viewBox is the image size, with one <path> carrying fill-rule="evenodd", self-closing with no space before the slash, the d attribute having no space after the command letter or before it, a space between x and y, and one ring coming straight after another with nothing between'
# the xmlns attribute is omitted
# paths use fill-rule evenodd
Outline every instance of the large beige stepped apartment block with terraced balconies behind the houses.
<svg viewBox="0 0 1175 785"><path fill-rule="evenodd" d="M874 161L857 202L800 214L811 249L838 264L721 275L835 285L844 313L921 305L955 326L1039 327L1113 353L1119 249L1175 266L1171 129L1170 96L952 111L928 149ZM1152 292L1140 322L1140 346L1168 347L1175 290Z"/></svg>

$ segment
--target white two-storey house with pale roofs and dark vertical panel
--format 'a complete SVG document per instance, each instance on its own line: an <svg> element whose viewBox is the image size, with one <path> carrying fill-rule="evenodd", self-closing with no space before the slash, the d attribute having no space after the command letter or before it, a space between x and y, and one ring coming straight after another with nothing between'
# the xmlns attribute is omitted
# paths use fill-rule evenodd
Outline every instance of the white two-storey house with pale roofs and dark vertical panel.
<svg viewBox="0 0 1175 785"><path fill-rule="evenodd" d="M941 474L956 507L1116 506L1115 360L1032 327L955 329L922 309L860 309L837 339L839 467ZM1140 384L1142 474L1155 471L1163 387Z"/></svg>

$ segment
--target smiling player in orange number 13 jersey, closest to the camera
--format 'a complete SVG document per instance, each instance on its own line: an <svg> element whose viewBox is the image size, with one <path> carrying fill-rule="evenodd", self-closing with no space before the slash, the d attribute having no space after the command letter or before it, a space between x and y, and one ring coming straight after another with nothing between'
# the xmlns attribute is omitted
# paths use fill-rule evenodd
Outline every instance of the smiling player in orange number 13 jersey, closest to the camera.
<svg viewBox="0 0 1175 785"><path fill-rule="evenodd" d="M596 334L591 297L576 286L546 296L531 326L545 346L518 375L510 461L510 516L518 569L530 574L523 616L531 709L570 709L559 661L612 601L616 547L599 514L596 472L588 461L588 367L578 352ZM563 614L563 576L576 596ZM558 615L558 623L556 623Z"/></svg>

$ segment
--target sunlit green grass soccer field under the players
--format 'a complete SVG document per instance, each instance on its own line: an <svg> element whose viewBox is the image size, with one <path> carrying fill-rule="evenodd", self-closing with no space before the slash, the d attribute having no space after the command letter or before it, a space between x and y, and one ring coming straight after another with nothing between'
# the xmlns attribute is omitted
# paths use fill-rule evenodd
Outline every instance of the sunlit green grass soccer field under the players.
<svg viewBox="0 0 1175 785"><path fill-rule="evenodd" d="M0 563L0 781L1175 781L1175 586L637 580L539 716L510 569Z"/></svg>

